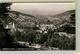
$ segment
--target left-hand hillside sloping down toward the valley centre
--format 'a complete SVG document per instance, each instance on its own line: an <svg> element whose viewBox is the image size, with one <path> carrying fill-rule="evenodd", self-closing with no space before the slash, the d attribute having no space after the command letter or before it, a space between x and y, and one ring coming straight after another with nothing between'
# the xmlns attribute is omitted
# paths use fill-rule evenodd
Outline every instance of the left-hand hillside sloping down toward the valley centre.
<svg viewBox="0 0 80 54"><path fill-rule="evenodd" d="M14 23L18 24L18 27L33 27L37 21L35 16L17 11L10 11L9 15L15 21Z"/></svg>

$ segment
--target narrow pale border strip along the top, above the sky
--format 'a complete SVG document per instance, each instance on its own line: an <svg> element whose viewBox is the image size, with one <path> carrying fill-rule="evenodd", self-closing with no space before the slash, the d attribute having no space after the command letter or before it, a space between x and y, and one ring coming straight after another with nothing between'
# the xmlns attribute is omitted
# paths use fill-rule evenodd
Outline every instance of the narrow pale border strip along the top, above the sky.
<svg viewBox="0 0 80 54"><path fill-rule="evenodd" d="M0 2L75 2L76 0L0 0Z"/></svg>

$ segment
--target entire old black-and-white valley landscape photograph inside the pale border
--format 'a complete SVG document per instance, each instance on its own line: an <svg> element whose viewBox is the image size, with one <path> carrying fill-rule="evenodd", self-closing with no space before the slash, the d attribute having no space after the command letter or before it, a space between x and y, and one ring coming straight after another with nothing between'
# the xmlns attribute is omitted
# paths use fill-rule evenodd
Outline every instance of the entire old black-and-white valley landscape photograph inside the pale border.
<svg viewBox="0 0 80 54"><path fill-rule="evenodd" d="M0 51L76 50L75 3L0 3Z"/></svg>

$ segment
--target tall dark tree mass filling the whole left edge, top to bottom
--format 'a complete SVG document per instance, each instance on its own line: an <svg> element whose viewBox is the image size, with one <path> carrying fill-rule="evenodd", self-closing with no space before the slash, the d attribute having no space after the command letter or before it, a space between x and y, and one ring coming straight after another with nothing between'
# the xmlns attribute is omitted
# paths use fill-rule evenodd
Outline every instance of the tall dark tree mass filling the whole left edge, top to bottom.
<svg viewBox="0 0 80 54"><path fill-rule="evenodd" d="M3 19L7 20L7 13L10 11L11 3L0 3L0 48L10 47L13 42L13 38L8 34L8 29L5 29Z"/></svg>

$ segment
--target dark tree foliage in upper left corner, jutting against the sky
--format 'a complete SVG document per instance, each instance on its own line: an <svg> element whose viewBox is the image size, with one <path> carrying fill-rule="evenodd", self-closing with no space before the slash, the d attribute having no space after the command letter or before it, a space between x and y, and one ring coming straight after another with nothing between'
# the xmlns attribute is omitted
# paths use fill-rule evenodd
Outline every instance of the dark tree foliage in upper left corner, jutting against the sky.
<svg viewBox="0 0 80 54"><path fill-rule="evenodd" d="M10 5L12 3L0 3L0 20L6 24L7 18L9 17L8 12L10 11Z"/></svg>

